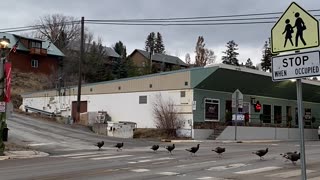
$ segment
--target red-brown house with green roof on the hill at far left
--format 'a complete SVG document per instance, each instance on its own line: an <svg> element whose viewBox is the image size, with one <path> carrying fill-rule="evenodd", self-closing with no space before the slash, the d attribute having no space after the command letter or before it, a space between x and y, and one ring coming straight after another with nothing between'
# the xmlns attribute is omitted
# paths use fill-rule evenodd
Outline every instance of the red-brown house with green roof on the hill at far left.
<svg viewBox="0 0 320 180"><path fill-rule="evenodd" d="M13 70L50 75L62 65L64 54L50 41L10 33L0 33L0 37L10 40L6 52L10 52L7 61Z"/></svg>

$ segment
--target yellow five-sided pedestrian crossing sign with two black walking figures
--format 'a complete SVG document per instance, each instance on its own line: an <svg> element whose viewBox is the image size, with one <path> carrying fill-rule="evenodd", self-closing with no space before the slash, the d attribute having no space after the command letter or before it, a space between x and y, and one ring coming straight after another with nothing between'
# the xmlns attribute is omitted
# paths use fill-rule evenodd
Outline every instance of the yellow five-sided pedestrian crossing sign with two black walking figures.
<svg viewBox="0 0 320 180"><path fill-rule="evenodd" d="M295 2L271 30L272 53L319 46L319 21Z"/></svg>

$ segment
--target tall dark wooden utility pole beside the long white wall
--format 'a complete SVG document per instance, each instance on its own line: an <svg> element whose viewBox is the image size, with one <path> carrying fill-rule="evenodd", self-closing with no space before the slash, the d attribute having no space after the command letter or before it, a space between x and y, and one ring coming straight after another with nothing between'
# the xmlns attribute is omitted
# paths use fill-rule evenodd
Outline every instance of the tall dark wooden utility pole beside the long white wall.
<svg viewBox="0 0 320 180"><path fill-rule="evenodd" d="M83 62L84 55L84 17L81 17L81 38L80 38L80 62L79 62L79 82L78 82L78 98L77 98L77 118L80 120L80 104L81 104L81 64Z"/></svg>

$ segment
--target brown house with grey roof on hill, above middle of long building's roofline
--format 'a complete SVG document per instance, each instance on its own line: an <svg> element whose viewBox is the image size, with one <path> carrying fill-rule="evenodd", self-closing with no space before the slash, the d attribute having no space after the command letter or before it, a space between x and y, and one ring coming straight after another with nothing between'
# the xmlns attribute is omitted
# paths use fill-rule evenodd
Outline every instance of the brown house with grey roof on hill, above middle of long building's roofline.
<svg viewBox="0 0 320 180"><path fill-rule="evenodd" d="M189 67L189 65L183 62L179 57L160 53L150 54L149 52L140 49L135 49L129 55L129 58L140 70L148 67L150 62L152 62L153 73L185 69Z"/></svg>

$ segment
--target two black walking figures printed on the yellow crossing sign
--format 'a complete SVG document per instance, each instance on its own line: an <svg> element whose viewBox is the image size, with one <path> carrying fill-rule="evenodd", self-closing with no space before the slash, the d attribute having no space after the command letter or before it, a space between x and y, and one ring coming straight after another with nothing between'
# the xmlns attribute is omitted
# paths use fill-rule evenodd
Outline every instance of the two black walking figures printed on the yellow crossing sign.
<svg viewBox="0 0 320 180"><path fill-rule="evenodd" d="M301 40L303 45L307 45L307 43L305 42L305 40L303 38L303 31L306 30L307 27L304 24L303 19L300 17L300 13L296 12L294 14L294 16L296 17L296 22L293 27L291 26L289 19L286 19L286 21L285 21L286 26L285 26L285 29L282 33L282 34L285 34L284 47L286 47L288 39L289 39L291 45L293 46L292 33L294 33L294 30L293 30L294 28L296 28L295 46L298 47L299 39Z"/></svg>

